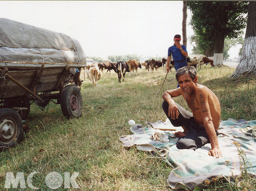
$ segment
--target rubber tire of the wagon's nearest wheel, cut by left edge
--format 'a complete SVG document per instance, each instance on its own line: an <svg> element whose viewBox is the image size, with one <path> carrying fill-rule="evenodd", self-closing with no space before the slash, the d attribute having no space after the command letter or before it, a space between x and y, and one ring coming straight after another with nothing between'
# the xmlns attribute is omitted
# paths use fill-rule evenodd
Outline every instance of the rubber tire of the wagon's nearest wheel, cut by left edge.
<svg viewBox="0 0 256 191"><path fill-rule="evenodd" d="M2 130L6 127L7 123L5 120L11 121L11 125L14 128L13 136L8 140L3 140ZM4 125L5 124L5 125ZM7 125L9 126L9 125ZM0 109L0 151L5 148L13 148L16 144L23 141L23 123L20 118L20 115L10 108L1 108Z"/></svg>

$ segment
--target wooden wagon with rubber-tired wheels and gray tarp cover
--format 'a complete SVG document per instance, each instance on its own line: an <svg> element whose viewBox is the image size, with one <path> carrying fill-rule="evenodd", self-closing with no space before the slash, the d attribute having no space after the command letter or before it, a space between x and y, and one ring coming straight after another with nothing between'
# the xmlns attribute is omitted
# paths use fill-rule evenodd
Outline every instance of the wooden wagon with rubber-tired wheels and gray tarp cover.
<svg viewBox="0 0 256 191"><path fill-rule="evenodd" d="M0 147L23 139L22 119L35 103L60 104L67 118L82 110L80 71L86 57L65 34L0 18Z"/></svg>

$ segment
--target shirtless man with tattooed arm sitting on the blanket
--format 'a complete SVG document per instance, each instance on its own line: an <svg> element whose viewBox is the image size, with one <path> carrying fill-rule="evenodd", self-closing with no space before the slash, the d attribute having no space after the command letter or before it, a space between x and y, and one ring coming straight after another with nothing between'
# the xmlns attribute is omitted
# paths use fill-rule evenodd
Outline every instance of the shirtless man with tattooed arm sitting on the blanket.
<svg viewBox="0 0 256 191"><path fill-rule="evenodd" d="M221 106L216 95L206 86L198 84L195 68L185 66L176 72L179 88L165 91L163 110L174 126L181 126L183 132L175 132L179 137L178 149L196 149L210 143L209 155L220 158L218 128L221 120ZM172 97L182 95L192 113L175 103Z"/></svg>

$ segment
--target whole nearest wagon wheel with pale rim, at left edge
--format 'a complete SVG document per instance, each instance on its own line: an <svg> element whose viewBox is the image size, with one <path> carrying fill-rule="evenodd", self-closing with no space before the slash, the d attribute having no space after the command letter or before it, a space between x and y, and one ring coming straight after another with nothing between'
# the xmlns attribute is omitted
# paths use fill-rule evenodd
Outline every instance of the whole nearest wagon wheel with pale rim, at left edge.
<svg viewBox="0 0 256 191"><path fill-rule="evenodd" d="M15 147L23 140L23 124L19 114L10 108L0 109L0 150Z"/></svg>

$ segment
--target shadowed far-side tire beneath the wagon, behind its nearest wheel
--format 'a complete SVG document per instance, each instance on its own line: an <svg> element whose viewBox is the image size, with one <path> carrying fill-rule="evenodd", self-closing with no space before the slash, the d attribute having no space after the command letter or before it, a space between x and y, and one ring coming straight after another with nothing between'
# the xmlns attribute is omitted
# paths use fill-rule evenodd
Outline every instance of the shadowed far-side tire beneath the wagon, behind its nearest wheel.
<svg viewBox="0 0 256 191"><path fill-rule="evenodd" d="M6 108L28 108L27 110L23 110L22 113L19 112L19 115L22 120L26 120L29 117L30 112L30 102L26 100L25 97L17 98L14 100L8 100L3 104Z"/></svg>

